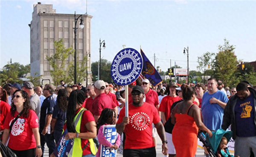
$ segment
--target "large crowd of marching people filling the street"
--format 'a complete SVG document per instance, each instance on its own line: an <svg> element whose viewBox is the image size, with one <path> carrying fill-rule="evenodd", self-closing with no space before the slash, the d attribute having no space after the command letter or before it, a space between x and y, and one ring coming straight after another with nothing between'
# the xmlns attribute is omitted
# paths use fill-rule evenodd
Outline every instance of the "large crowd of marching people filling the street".
<svg viewBox="0 0 256 157"><path fill-rule="evenodd" d="M6 84L0 87L0 136L17 157L44 156L45 143L54 157L64 130L65 139L74 140L69 156L100 157L100 148L96 152L90 140L97 137L100 145L117 149L122 135L125 157L156 157L159 135L164 155L195 157L199 129L211 137L212 131L231 125L235 156L252 157L256 154L255 88L248 81L224 88L214 78L207 84L170 82L154 87L148 79L138 78L128 85L125 97L124 86L103 80L86 87L68 86L63 80L56 88L35 87L31 82ZM112 124L119 133L114 144L102 134L102 126ZM224 139L222 145L227 142ZM205 154L209 157L207 149Z"/></svg>

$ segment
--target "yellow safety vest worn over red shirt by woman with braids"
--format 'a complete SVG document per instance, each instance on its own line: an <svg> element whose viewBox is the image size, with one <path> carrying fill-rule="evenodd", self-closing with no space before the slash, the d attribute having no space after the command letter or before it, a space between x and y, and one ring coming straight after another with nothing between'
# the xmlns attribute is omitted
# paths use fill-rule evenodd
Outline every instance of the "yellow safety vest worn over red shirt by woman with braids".
<svg viewBox="0 0 256 157"><path fill-rule="evenodd" d="M85 111L85 108L81 108L81 110L76 114L76 117L74 118L74 125L76 127L76 131L80 133L80 126L81 126L81 115ZM95 155L98 151L98 149L95 147L93 139L89 139L90 143L90 151L93 155ZM74 138L74 144L73 147L70 150L70 153L68 154L68 157L81 157L83 155L83 150L81 148L81 138Z"/></svg>

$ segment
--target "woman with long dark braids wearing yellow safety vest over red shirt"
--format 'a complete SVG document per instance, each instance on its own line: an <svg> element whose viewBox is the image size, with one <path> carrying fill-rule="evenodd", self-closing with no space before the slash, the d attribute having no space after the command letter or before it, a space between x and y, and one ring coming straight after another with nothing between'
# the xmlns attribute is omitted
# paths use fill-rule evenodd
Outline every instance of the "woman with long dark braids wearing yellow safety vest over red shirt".
<svg viewBox="0 0 256 157"><path fill-rule="evenodd" d="M67 121L64 124L64 130L68 133L65 139L74 139L73 148L70 151L73 157L94 157L91 153L89 139L97 135L96 123L93 114L82 108L84 103L84 92L76 89L70 93L67 106ZM80 125L78 125L80 124ZM69 155L70 157L70 155Z"/></svg>

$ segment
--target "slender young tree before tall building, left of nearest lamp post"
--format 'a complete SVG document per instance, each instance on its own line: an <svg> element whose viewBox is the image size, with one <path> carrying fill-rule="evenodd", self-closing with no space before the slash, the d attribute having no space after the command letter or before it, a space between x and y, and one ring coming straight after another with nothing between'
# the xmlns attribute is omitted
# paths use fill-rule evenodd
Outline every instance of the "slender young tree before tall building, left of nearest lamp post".
<svg viewBox="0 0 256 157"><path fill-rule="evenodd" d="M60 41L54 41L55 53L52 56L47 56L51 69L49 70L52 80L55 86L58 86L60 80L70 80L68 77L68 71L72 62L68 62L67 58L70 54L74 53L72 47L65 48L63 39Z"/></svg>

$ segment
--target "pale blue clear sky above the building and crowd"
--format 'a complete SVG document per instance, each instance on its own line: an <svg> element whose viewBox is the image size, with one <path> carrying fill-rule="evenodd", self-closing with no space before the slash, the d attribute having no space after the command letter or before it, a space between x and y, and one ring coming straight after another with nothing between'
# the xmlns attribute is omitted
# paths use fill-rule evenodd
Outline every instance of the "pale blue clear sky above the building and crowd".
<svg viewBox="0 0 256 157"><path fill-rule="evenodd" d="M12 62L30 63L33 4L53 4L57 14L84 14L86 0L0 0L0 68ZM186 69L184 47L189 46L189 69L197 57L217 53L224 38L236 46L239 60L256 60L255 0L87 0L91 20L91 61L112 62L123 49L140 46L155 67L167 71L175 62Z"/></svg>

